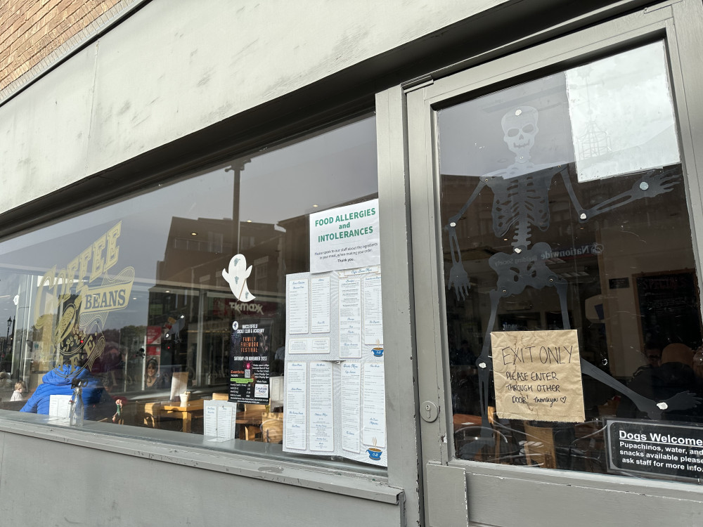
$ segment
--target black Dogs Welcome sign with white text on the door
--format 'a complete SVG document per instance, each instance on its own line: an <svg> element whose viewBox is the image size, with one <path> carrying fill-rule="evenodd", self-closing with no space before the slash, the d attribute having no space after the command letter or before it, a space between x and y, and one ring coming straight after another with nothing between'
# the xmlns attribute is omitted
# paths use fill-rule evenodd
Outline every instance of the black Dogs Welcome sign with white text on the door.
<svg viewBox="0 0 703 527"><path fill-rule="evenodd" d="M606 419L608 470L650 477L703 479L703 427Z"/></svg>

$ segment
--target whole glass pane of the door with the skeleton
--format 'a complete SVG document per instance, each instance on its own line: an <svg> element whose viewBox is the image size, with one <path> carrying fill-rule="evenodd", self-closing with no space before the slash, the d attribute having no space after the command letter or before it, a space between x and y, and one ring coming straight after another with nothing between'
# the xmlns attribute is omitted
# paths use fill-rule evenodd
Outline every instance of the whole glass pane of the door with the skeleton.
<svg viewBox="0 0 703 527"><path fill-rule="evenodd" d="M439 111L456 457L699 477L699 287L667 72L655 42Z"/></svg>

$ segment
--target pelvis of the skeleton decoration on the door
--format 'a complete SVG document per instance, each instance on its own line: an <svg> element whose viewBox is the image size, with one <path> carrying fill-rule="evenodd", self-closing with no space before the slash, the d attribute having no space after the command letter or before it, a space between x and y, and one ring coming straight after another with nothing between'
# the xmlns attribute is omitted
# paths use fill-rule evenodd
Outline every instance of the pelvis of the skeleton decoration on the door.
<svg viewBox="0 0 703 527"><path fill-rule="evenodd" d="M489 258L489 265L498 273L497 289L501 297L520 294L525 287L542 289L564 282L563 278L547 267L546 259L552 248L548 243L539 242L532 247L515 247L510 254L498 252Z"/></svg>

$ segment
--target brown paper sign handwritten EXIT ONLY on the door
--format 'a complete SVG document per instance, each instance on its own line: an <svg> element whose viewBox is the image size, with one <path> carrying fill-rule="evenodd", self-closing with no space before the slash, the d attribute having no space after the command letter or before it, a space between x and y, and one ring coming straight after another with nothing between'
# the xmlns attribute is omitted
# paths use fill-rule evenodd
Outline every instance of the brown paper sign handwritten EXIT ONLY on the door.
<svg viewBox="0 0 703 527"><path fill-rule="evenodd" d="M585 420L576 330L491 332L491 350L498 417Z"/></svg>

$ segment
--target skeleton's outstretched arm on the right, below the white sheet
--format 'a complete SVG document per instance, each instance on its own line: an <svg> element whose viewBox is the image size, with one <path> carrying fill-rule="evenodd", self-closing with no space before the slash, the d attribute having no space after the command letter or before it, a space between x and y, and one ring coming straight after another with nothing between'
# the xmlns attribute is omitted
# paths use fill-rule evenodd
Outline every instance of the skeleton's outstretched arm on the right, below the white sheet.
<svg viewBox="0 0 703 527"><path fill-rule="evenodd" d="M633 201L641 200L643 197L654 197L669 192L673 186L678 183L678 181L676 181L676 179L678 179L677 171L678 169L669 169L666 171L655 169L647 171L633 184L630 190L610 197L604 202L595 205L595 207L591 207L591 209L583 209L583 207L581 207L581 203L576 197L576 193L574 193L574 187L572 186L567 171L562 171L562 180L564 180L564 185L567 188L567 192L569 193L574 207L579 211L579 221L586 221L603 212L608 212Z"/></svg>

